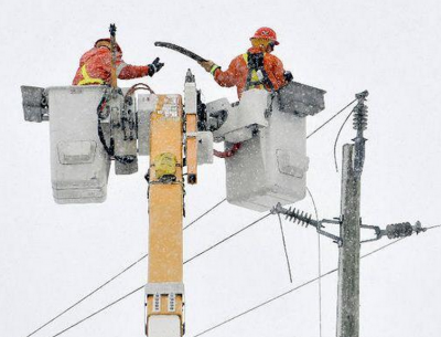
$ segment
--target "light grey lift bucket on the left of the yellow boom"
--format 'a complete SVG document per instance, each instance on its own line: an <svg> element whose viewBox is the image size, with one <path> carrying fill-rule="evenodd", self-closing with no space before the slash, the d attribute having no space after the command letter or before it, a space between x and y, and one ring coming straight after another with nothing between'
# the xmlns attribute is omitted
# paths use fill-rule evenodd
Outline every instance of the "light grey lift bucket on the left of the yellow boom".
<svg viewBox="0 0 441 337"><path fill-rule="evenodd" d="M97 133L104 89L95 85L47 88L52 190L57 203L106 199L110 159Z"/></svg>

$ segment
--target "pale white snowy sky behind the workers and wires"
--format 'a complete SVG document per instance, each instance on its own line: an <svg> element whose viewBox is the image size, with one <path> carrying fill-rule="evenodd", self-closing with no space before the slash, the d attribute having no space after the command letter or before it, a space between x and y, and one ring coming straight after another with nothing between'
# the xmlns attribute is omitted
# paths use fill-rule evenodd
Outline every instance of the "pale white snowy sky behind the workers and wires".
<svg viewBox="0 0 441 337"><path fill-rule="evenodd" d="M217 86L195 62L153 42L182 44L226 67L248 48L257 28L273 28L280 41L276 54L286 69L297 81L327 91L326 109L308 120L309 130L355 93L370 93L364 222L441 223L439 1L8 1L0 12L0 336L24 337L147 251L147 159L137 175L111 173L105 203L57 206L50 181L49 124L22 117L20 85L69 84L79 56L107 36L110 22L118 27L127 62L147 64L155 56L165 62L148 78L157 92L182 93L185 71L192 67L206 102L234 101L235 89ZM340 212L333 143L343 119L308 141L308 183L321 218ZM341 144L353 136L347 125ZM201 168L200 183L186 189L185 223L225 197L224 176L220 159ZM308 198L298 207L313 210ZM185 257L260 215L224 203L185 232ZM186 336L316 275L314 231L289 223L286 230L293 284L273 217L185 266ZM361 336L439 336L440 240L441 230L433 230L363 260ZM363 252L386 243L366 244ZM336 266L337 249L325 239L322 259L323 272ZM142 263L35 336L54 335L146 278ZM323 336L334 336L335 274L322 286ZM64 336L122 335L143 336L142 293ZM226 335L319 336L316 284L205 336Z"/></svg>

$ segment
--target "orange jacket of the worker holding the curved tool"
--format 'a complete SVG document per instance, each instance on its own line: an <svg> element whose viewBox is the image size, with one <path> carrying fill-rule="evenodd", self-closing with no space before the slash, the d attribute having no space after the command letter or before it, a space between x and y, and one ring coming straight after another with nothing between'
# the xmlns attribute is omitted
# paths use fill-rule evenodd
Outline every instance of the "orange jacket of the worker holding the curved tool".
<svg viewBox="0 0 441 337"><path fill-rule="evenodd" d="M248 52L255 54L260 53L260 50L258 48L250 48ZM227 87L236 86L237 96L239 98L247 85L248 64L245 55L246 54L241 54L235 57L225 72L223 72L220 69L217 69L213 74L214 80L219 85ZM268 78L271 81L275 91L279 89L286 84L283 64L277 56L265 53L263 69L267 72ZM268 85L266 85L265 88L267 91L271 89Z"/></svg>

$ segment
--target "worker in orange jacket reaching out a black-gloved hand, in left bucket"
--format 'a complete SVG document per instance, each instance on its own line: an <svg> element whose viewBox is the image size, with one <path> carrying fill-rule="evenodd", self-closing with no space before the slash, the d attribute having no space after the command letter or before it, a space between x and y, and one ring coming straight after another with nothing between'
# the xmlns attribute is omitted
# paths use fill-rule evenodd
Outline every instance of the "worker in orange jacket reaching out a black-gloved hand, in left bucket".
<svg viewBox="0 0 441 337"><path fill-rule="evenodd" d="M153 76L164 65L157 57L149 65L131 65L122 61L121 48L116 43L116 72L120 80ZM111 77L110 39L100 39L79 60L73 85L110 84Z"/></svg>

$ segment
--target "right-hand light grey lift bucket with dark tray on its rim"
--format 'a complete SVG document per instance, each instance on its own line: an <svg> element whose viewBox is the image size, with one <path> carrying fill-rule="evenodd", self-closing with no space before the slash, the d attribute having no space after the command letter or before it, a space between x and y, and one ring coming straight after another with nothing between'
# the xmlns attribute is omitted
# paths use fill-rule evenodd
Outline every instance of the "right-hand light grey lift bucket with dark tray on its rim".
<svg viewBox="0 0 441 337"><path fill-rule="evenodd" d="M249 125L245 130L251 129L251 137L249 134L244 137L241 133L241 139L232 137L234 140L228 141L228 134L225 136L226 149L234 143L241 143L240 148L225 159L229 203L268 211L278 202L289 204L305 197L309 158L304 116L324 108L324 93L297 84L286 89L281 101L266 91L259 91L266 99L256 99L256 91L243 94L238 106L229 109L226 123L235 113L240 114L240 118L255 114L259 117L254 123L247 120ZM239 135L238 130L234 135Z"/></svg>

